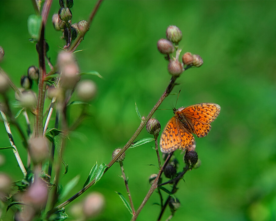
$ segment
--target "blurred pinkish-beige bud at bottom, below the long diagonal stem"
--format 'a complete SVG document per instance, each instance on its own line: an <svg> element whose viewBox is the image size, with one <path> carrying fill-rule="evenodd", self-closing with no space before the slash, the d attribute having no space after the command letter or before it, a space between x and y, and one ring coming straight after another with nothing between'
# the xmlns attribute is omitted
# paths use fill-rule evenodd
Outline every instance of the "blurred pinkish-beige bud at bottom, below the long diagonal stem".
<svg viewBox="0 0 276 221"><path fill-rule="evenodd" d="M83 214L88 217L95 217L100 214L105 206L105 198L99 192L90 193L83 203Z"/></svg>

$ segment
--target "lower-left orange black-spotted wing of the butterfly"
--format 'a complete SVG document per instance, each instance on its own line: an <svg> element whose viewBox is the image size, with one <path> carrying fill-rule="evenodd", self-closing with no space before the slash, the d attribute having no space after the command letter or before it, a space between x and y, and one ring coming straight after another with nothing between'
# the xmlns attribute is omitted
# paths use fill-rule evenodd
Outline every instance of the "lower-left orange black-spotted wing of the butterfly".
<svg viewBox="0 0 276 221"><path fill-rule="evenodd" d="M162 153L171 153L176 149L186 149L194 144L194 136L182 126L179 119L172 117L165 126L160 138Z"/></svg>

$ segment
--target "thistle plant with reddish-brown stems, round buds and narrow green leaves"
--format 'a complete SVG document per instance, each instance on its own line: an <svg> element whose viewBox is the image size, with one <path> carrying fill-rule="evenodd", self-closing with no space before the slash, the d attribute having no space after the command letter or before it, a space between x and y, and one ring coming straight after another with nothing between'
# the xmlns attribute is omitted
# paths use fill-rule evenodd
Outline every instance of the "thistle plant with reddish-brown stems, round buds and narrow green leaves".
<svg viewBox="0 0 276 221"><path fill-rule="evenodd" d="M59 0L60 9L52 15L53 28L60 33L64 39L64 45L60 46L60 52L57 56L57 61L52 61L47 52L53 47L45 39L45 25L49 15L49 10L52 4L51 0L34 1L34 9L36 15L30 15L28 19L28 30L30 33L30 44L36 45L36 51L39 58L37 65L31 64L26 70L26 75L22 75L20 82L21 87L17 87L8 75L8 70L0 68L0 93L1 93L1 115L3 125L6 128L9 147L1 147L4 149L12 149L15 159L22 171L22 179L13 183L8 175L0 174L1 200L5 203L6 210L13 210L15 220L65 220L68 215L66 213L67 205L72 203L77 197L85 194L86 190L93 188L93 184L98 182L101 177L108 176L105 173L114 163L121 168L121 177L124 180L128 199L124 193L117 192L126 208L130 212L129 219L136 220L140 211L147 203L149 197L156 192L159 195L160 202L157 204L160 207L159 214L156 214L157 220L161 220L166 208L170 209L171 215L167 218L170 220L180 207L180 202L177 198L177 190L181 188L179 184L187 171L198 167L198 156L195 152L195 145L185 148L184 162L186 166L179 168L179 161L174 156L174 152L163 153L159 151L159 134L161 132L162 123L157 119L152 118L153 114L171 93L172 89L178 83L176 80L183 75L188 69L200 67L203 60L199 55L186 52L181 58L181 49L179 43L182 39L182 32L177 26L169 26L166 30L167 39L160 39L157 42L157 49L164 55L168 62L167 71L171 75L170 82L164 93L158 99L157 103L151 109L147 116L141 116L136 105L136 113L140 119L140 125L134 132L128 142L120 148L114 150L112 159L109 163L103 162L94 164L83 188L75 193L68 200L62 202L68 192L77 184L79 176L71 179L64 187L60 184L60 174L64 175L68 172L68 165L63 160L63 154L66 152L68 138L71 132L75 130L85 119L88 113L88 105L91 100L97 95L98 86L96 83L89 80L82 80L85 74L90 77L102 77L98 72L80 72L78 61L74 53L78 46L84 40L86 33L93 29L92 21L99 9L101 0L96 2L89 19L75 21L73 23L73 15L71 8L74 7L73 0ZM91 27L90 27L91 25ZM58 33L57 32L57 33ZM4 59L4 48L0 47L0 61ZM50 69L50 71L46 71ZM37 84L37 90L32 90ZM7 91L12 88L15 96L8 96ZM79 101L72 101L72 95L76 93ZM50 98L49 106L46 106L45 100ZM14 106L10 105L13 100ZM79 117L74 122L69 122L68 107L73 103L81 105ZM135 111L135 110L134 110ZM17 118L22 114L25 118L25 125L19 124ZM32 118L30 120L29 118ZM33 122L30 123L30 122ZM54 123L53 123L54 122ZM10 125L13 125L20 135L20 140L13 139L13 131ZM147 138L136 140L138 134L146 127L150 134ZM27 128L25 131L23 128ZM163 132L164 133L164 132ZM26 160L22 160L16 145L22 142L25 151L28 155ZM154 147L157 160L152 156L153 161L156 161L156 173L148 174L150 176L150 188L140 203L140 206L135 208L135 199L132 199L131 189L128 185L128 176L130 174L127 167L125 169L123 161L127 155L125 152L128 148L135 148L149 142L154 142ZM180 150L179 150L180 151ZM161 155L161 157L160 157ZM181 159L182 160L182 159ZM116 166L116 165L115 165ZM166 180L166 181L164 181ZM4 185L5 184L5 185ZM114 190L116 191L116 190ZM82 215L78 220L90 219L103 211L105 199L101 193L89 194L81 203ZM122 204L123 206L123 204ZM150 205L148 205L150 206ZM118 218L120 219L120 218Z"/></svg>

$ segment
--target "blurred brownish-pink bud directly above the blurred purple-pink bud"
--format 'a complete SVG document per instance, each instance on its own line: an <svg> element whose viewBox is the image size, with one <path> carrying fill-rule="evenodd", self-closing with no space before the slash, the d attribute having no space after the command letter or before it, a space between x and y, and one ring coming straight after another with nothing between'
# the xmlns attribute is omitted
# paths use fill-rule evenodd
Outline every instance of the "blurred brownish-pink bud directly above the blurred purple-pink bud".
<svg viewBox="0 0 276 221"><path fill-rule="evenodd" d="M40 163L49 157L49 144L45 137L36 137L29 140L29 151L32 160Z"/></svg>

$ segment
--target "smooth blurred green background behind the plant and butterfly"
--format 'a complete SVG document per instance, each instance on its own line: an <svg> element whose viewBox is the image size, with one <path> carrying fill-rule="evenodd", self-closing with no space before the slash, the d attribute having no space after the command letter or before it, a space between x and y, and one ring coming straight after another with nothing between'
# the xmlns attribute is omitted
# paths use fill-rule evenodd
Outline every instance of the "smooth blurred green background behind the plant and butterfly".
<svg viewBox="0 0 276 221"><path fill-rule="evenodd" d="M72 23L88 19L94 4L74 1ZM64 45L61 33L51 23L58 9L58 1L53 1L45 30L53 63L58 46ZM184 72L177 80L179 85L173 90L178 93L181 89L177 108L212 102L220 104L221 112L209 135L196 138L201 167L186 173L185 182L178 184L175 196L182 207L173 220L276 220L275 10L275 1L104 1L79 45L83 51L75 54L81 71L96 70L104 79L84 77L97 83L98 95L91 102L91 117L67 142L64 160L69 172L61 176L61 182L66 184L80 175L69 195L82 188L96 161L108 163L112 151L125 145L135 132L140 124L135 102L146 116L162 95L170 76L156 43L166 37L167 26L177 25L183 33L182 52L199 54L204 60L203 66ZM35 45L28 41L27 18L31 14L31 1L0 1L0 45L5 50L0 65L18 87L28 67L38 65ZM12 91L9 96L12 99ZM176 95L168 96L160 109L171 109L176 99ZM74 119L80 109L72 107L70 111ZM170 110L154 114L162 129L172 116ZM24 122L23 116L19 120ZM53 126L54 119L50 124ZM11 129L26 163L25 149L15 128ZM1 147L9 146L3 123L0 134ZM145 129L137 139L144 137L149 137ZM158 173L149 166L158 164L152 145L126 152L125 173L135 208L150 188L148 177ZM5 159L0 170L10 174L13 181L22 179L12 151L2 150L0 154ZM181 151L175 155L183 166ZM130 220L114 192L127 196L120 175L119 165L113 165L75 201L82 201L89 192L101 192L105 210L94 220ZM153 205L155 202L159 203L156 193L137 220L156 220L159 207ZM75 219L71 207L66 207L68 220ZM167 209L163 220L169 214ZM2 220L8 217L10 212L1 215Z"/></svg>

